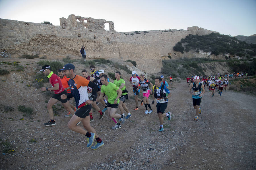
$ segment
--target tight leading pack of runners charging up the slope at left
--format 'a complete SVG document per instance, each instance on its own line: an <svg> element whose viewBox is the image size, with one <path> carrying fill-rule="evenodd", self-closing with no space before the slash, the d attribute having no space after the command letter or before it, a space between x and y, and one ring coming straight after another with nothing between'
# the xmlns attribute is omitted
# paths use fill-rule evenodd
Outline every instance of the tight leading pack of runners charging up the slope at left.
<svg viewBox="0 0 256 170"><path fill-rule="evenodd" d="M90 126L90 122L94 121L92 107L100 114L99 120L103 119L105 112L108 112L110 119L114 122L113 130L121 128L121 124L124 124L126 119L132 116L125 105L125 100L128 99L127 85L125 80L121 78L119 71L115 72L116 80L113 83L110 82L103 69L96 71L94 65L90 65L90 72L83 69L81 73L75 73L75 66L71 63L65 64L63 68L58 69L58 75L51 71L50 65L44 65L40 71L49 78L51 84L51 87L42 87L41 90L51 90L54 92L47 103L50 120L44 125L56 125L52 107L60 101L68 112L65 117L71 117L68 122L68 128L85 135L88 141L88 148L98 149L104 145L96 130ZM170 75L170 83L172 83L172 78L172 75ZM135 99L134 112L139 110L139 104L141 106L144 104L144 114L151 114L154 110L154 103L156 102L155 110L160 121L158 131L164 131L164 117L171 120L170 111L165 112L171 93L168 89L168 83L164 80L164 76L156 77L154 82L150 82L143 74L137 75L136 71L132 71L129 82L129 85L133 87ZM140 93L143 94L142 100L139 99ZM148 99L150 95L153 98L152 105ZM75 106L69 102L71 98L74 98ZM98 106L99 103L102 104L100 105L102 108ZM121 114L117 113L118 107ZM80 122L82 122L83 128L78 126ZM94 139L96 140L96 144L92 146Z"/></svg>

